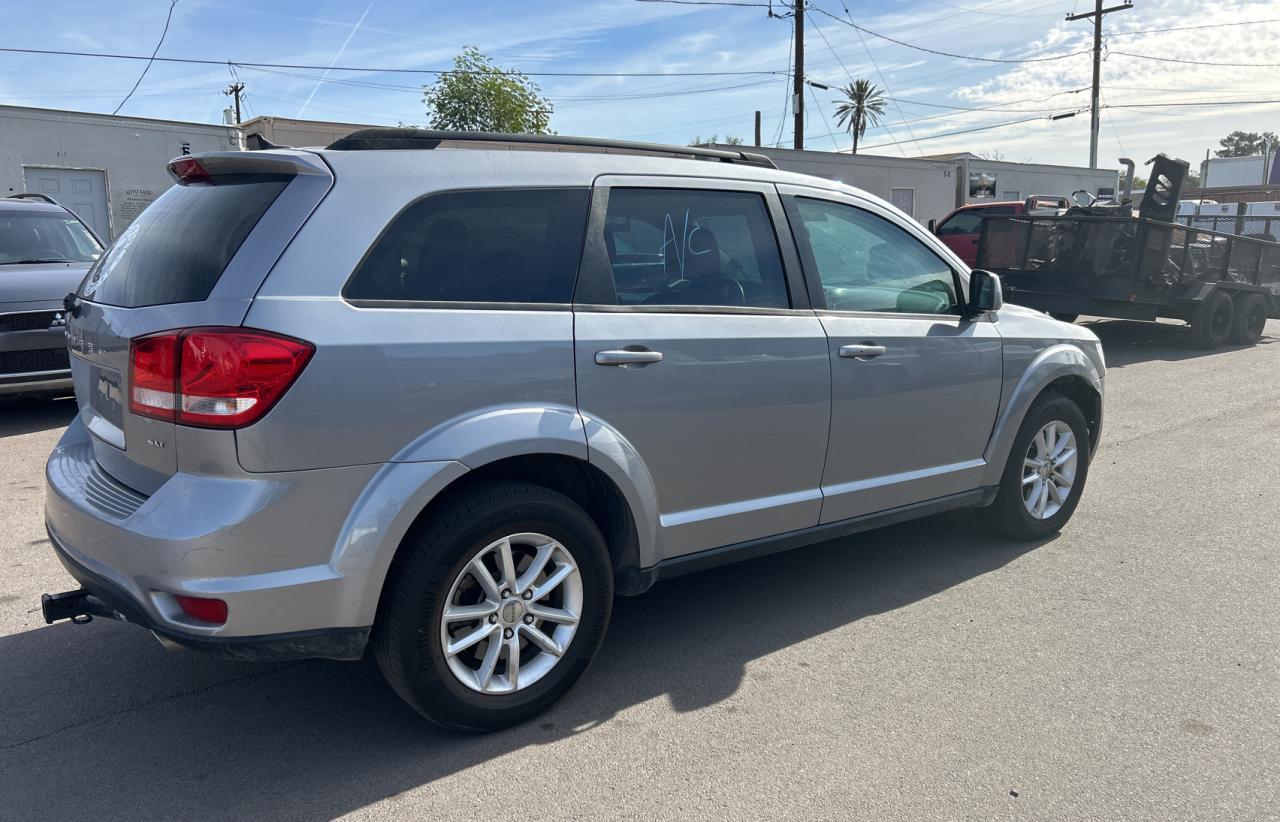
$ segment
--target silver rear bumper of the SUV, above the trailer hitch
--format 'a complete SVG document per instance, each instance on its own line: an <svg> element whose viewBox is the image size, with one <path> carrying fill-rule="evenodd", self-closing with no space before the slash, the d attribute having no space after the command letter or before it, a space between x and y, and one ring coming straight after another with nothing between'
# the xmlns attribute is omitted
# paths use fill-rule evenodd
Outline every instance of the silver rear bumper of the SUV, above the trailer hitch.
<svg viewBox="0 0 1280 822"><path fill-rule="evenodd" d="M358 657L367 580L333 563L376 466L250 476L175 474L146 497L106 474L77 417L46 466L45 524L63 565L122 618L239 658ZM214 597L224 625L175 594Z"/></svg>

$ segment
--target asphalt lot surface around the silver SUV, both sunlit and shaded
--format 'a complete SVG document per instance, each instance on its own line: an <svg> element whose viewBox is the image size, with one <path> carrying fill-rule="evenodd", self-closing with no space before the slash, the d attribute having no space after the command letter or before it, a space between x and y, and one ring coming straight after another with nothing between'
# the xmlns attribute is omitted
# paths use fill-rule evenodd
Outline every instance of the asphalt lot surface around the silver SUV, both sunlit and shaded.
<svg viewBox="0 0 1280 822"><path fill-rule="evenodd" d="M957 512L662 584L480 737L367 662L44 626L72 408L0 407L0 818L1280 818L1280 323L1093 328L1106 430L1060 536Z"/></svg>

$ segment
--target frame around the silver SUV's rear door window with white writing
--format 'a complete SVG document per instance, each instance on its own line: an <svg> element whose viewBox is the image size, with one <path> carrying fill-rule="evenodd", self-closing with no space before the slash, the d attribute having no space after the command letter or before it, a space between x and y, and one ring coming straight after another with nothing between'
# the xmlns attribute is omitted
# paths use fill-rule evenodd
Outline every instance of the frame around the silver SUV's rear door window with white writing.
<svg viewBox="0 0 1280 822"><path fill-rule="evenodd" d="M764 200L764 213L773 229L788 307L764 306L692 306L692 305L621 305L613 284L613 273L604 247L604 224L609 210L609 193L614 188L673 189L722 193L754 193ZM586 243L573 291L573 310L602 314L727 314L755 316L810 315L809 292L805 287L800 257L777 186L767 181L716 178L676 174L602 174L591 188L591 209L586 227Z"/></svg>

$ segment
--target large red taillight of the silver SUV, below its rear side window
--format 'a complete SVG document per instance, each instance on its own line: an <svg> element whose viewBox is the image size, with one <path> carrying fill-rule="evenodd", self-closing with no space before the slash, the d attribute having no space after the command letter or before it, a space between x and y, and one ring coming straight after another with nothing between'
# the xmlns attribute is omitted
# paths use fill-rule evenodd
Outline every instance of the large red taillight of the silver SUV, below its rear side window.
<svg viewBox="0 0 1280 822"><path fill-rule="evenodd" d="M239 328L193 328L131 346L129 410L180 425L261 419L311 359L311 343Z"/></svg>

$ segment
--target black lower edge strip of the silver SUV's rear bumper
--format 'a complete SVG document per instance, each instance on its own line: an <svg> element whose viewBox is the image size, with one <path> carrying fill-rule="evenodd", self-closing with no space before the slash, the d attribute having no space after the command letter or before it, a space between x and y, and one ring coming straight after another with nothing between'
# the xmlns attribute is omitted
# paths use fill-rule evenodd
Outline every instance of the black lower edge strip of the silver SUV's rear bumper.
<svg viewBox="0 0 1280 822"><path fill-rule="evenodd" d="M198 650L228 659L241 661L283 661L283 659L358 659L369 641L367 627L319 629L293 631L288 634L268 634L261 636L207 636L175 629L173 625L157 622L133 595L105 576L101 576L68 553L52 531L49 542L54 553L61 561L67 572L76 577L81 588L97 602L87 611L97 616L122 620L145 627L156 636L182 645L188 650ZM47 618L46 609L46 621Z"/></svg>

